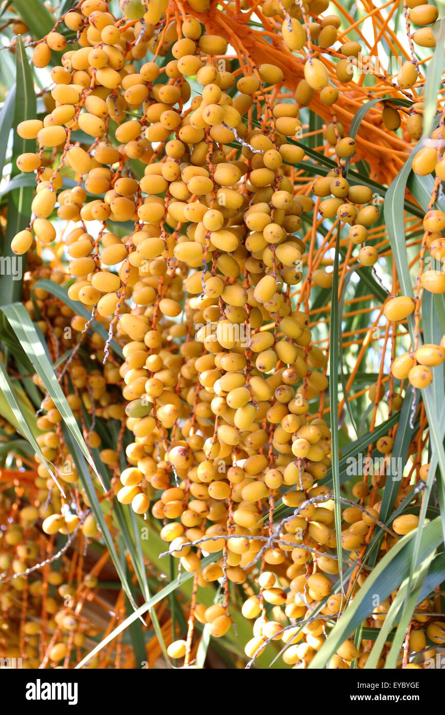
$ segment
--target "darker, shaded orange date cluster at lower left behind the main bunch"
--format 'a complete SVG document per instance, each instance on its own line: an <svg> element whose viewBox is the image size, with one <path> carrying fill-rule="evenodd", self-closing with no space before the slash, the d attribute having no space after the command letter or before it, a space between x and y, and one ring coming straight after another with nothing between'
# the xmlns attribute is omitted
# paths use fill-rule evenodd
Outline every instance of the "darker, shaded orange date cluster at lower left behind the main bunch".
<svg viewBox="0 0 445 715"><path fill-rule="evenodd" d="M44 335L51 336L61 350L76 347L76 336L81 335L79 327L76 329L79 316L63 302L35 287L36 281L41 279L60 284L66 275L60 270L39 266L31 252L29 264L33 270L24 281L24 305L34 319L35 312L39 311L41 319L36 320L36 325ZM119 369L111 364L104 369L101 361L105 341L96 333L87 335L84 345L91 359L96 355L99 369L87 373L80 360L73 361L69 370L71 390L66 395L69 407L76 418L81 418L82 409L91 410L91 400L94 400L98 419L121 420L124 406L116 386ZM44 390L36 376L34 382ZM76 583L70 567L72 562L68 559L62 561L61 567L51 568L51 563L59 561L61 556L59 553L48 556L47 537L53 539L60 534L61 538L71 541L78 536L85 544L100 538L101 533L88 508L86 494L80 488L74 460L66 448L61 414L48 395L42 401L41 412L36 420L40 452L34 454L35 472L29 473L34 478L19 490L18 503L14 504L8 496L0 498L0 523L5 530L0 548L0 650L3 658L16 659L12 662L19 662L19 667L26 669L39 668L42 661L51 667L66 667L72 654L80 659L91 649L89 637L101 632L87 606L98 583L94 569L90 572L80 566L77 576L80 574L81 578ZM14 426L7 423L1 428L6 433L11 430L15 433ZM100 447L101 440L94 430L85 436L91 447ZM111 450L101 450L100 455L104 463L116 463L116 455L111 454ZM23 466L21 459L17 460L17 466ZM54 475L60 490L54 483ZM61 496L62 490L64 496ZM73 506L76 494L81 510ZM105 518L110 523L109 517ZM78 543L81 547L82 541ZM52 550L57 551L54 546ZM91 659L86 667L94 668L97 664L98 659Z"/></svg>

